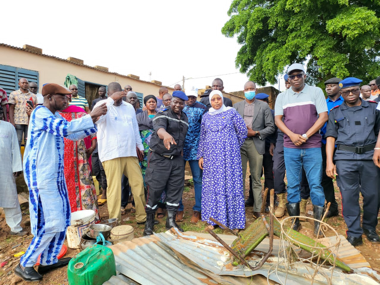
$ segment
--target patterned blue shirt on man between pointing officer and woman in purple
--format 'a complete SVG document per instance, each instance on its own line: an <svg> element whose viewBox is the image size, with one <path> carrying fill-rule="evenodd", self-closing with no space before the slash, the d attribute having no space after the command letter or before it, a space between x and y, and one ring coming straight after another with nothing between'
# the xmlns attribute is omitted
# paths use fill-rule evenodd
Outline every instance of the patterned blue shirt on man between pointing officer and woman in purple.
<svg viewBox="0 0 380 285"><path fill-rule="evenodd" d="M201 134L201 120L207 112L206 105L196 101L194 105L184 107L183 112L187 115L189 128L184 143L184 160L196 160L198 142Z"/></svg>

